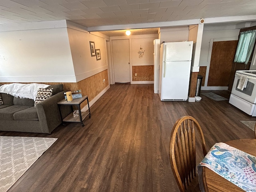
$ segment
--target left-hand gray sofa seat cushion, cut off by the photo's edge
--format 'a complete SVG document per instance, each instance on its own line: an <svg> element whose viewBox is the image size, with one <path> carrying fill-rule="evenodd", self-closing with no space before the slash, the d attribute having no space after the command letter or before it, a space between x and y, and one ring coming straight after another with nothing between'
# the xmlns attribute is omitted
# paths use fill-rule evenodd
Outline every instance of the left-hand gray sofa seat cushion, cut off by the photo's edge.
<svg viewBox="0 0 256 192"><path fill-rule="evenodd" d="M13 118L14 113L30 107L31 106L12 105L9 107L2 108L0 109L0 120L14 120Z"/></svg>

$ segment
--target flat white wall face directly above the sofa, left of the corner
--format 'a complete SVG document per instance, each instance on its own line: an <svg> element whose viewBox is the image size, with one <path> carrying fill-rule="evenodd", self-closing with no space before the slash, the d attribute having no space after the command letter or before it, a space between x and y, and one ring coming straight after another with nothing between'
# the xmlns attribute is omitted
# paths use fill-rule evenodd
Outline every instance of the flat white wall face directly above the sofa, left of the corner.
<svg viewBox="0 0 256 192"><path fill-rule="evenodd" d="M75 82L66 28L0 32L0 82Z"/></svg>

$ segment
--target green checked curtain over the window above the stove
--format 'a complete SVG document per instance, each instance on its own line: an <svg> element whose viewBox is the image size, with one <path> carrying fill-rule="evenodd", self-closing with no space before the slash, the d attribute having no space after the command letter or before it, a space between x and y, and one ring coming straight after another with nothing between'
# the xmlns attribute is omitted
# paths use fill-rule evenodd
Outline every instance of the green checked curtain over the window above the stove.
<svg viewBox="0 0 256 192"><path fill-rule="evenodd" d="M256 39L256 30L240 32L234 62L248 64Z"/></svg>

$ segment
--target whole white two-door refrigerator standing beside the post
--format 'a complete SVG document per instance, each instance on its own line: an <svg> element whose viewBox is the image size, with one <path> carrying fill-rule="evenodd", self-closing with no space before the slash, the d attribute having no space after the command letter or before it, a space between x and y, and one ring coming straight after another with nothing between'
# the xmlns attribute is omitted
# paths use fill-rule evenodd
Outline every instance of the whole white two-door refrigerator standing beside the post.
<svg viewBox="0 0 256 192"><path fill-rule="evenodd" d="M158 93L161 101L186 101L190 80L193 41L160 45Z"/></svg>

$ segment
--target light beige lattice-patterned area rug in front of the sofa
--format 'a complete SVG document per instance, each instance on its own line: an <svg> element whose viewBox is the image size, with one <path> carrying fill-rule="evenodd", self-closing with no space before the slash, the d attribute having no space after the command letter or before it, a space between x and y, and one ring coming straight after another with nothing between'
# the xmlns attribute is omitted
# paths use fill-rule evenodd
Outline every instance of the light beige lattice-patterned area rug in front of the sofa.
<svg viewBox="0 0 256 192"><path fill-rule="evenodd" d="M0 136L0 192L6 192L57 140Z"/></svg>

